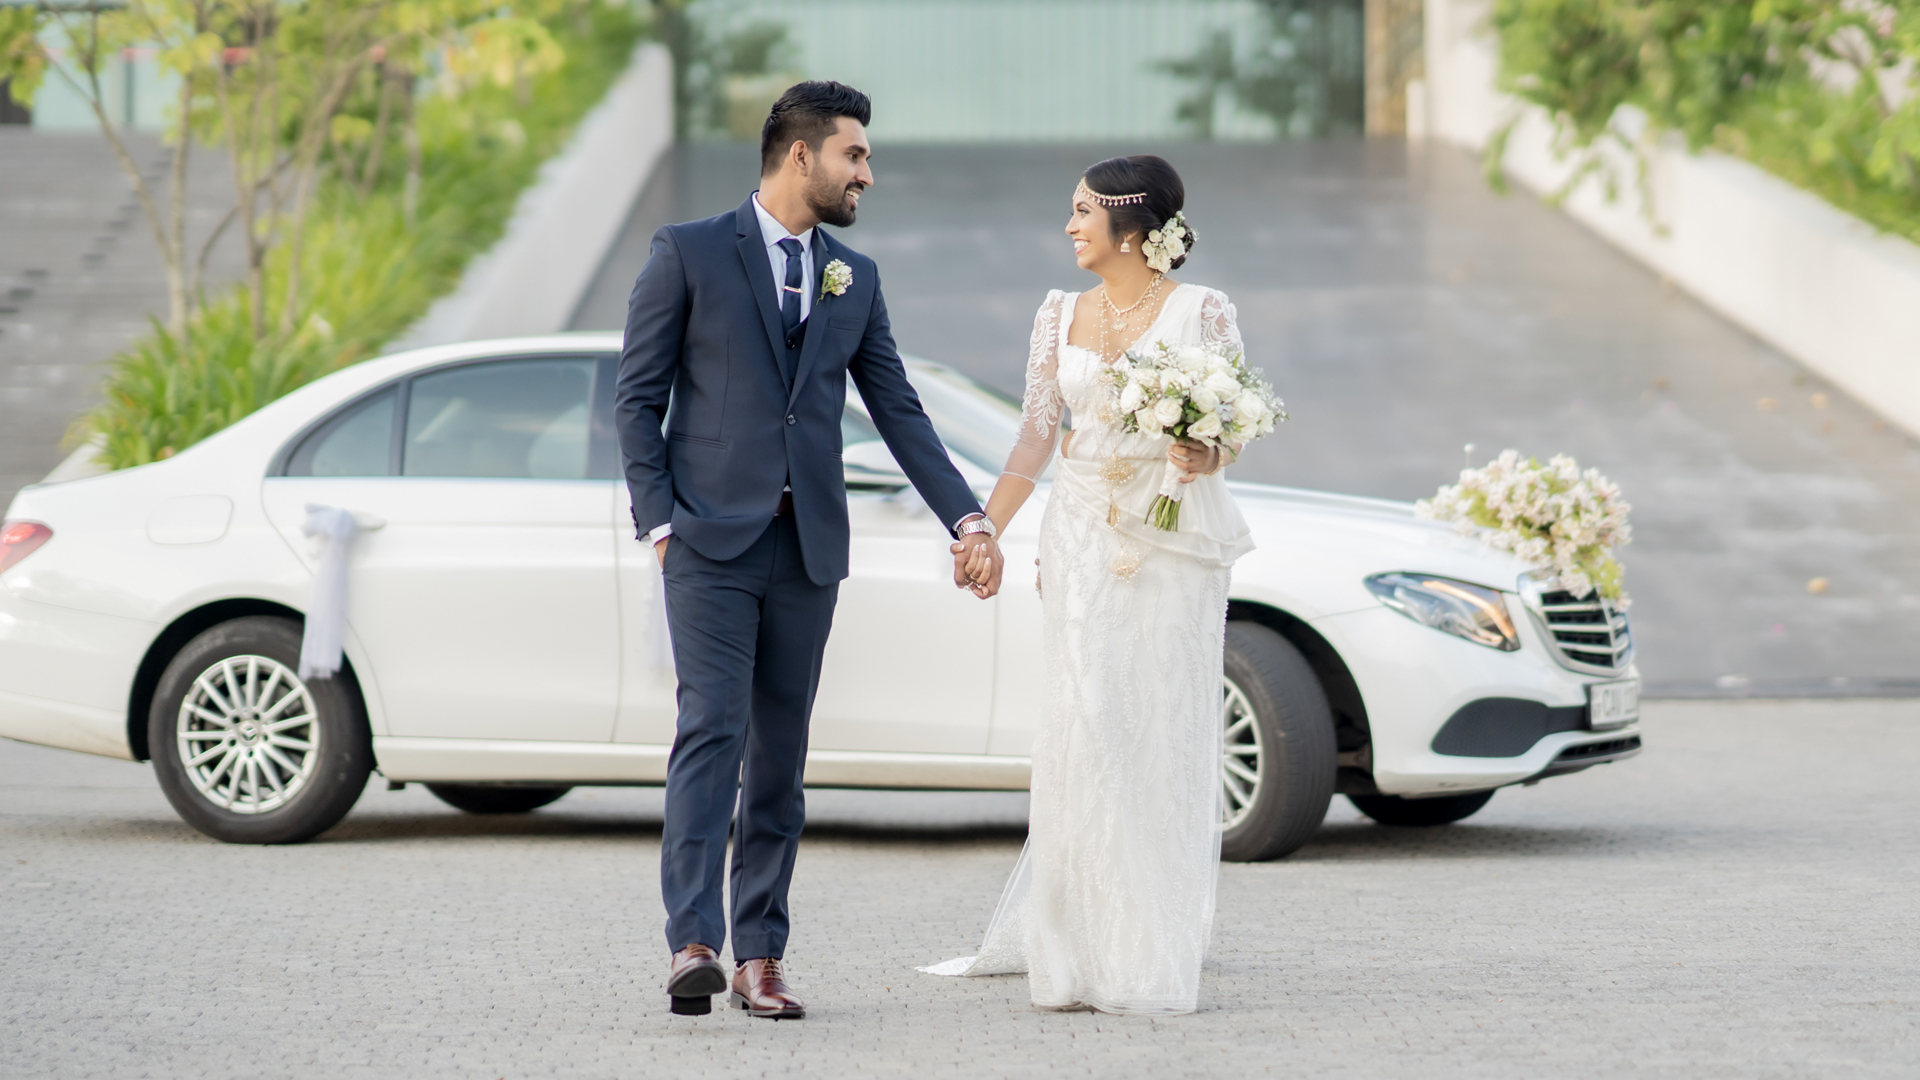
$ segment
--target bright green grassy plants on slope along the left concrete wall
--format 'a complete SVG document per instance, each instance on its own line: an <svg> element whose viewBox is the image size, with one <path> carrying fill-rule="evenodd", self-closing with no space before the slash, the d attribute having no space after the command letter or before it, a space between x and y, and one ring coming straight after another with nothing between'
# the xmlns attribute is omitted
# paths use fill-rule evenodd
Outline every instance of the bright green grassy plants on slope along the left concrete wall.
<svg viewBox="0 0 1920 1080"><path fill-rule="evenodd" d="M365 188L355 183L357 160L338 158L336 146L301 244L275 248L263 273L265 323L294 331L257 336L248 286L204 304L186 334L156 323L115 357L106 402L83 419L84 432L106 440L102 461L125 469L169 457L313 379L367 359L424 315L459 282L467 261L499 238L518 194L605 96L641 33L626 8L599 2L584 23L547 21L553 48L564 56L557 67L513 73L509 85L482 79L459 96L419 102L413 213L397 131ZM371 98L361 106L371 110ZM284 313L294 258L303 284L298 309Z"/></svg>

